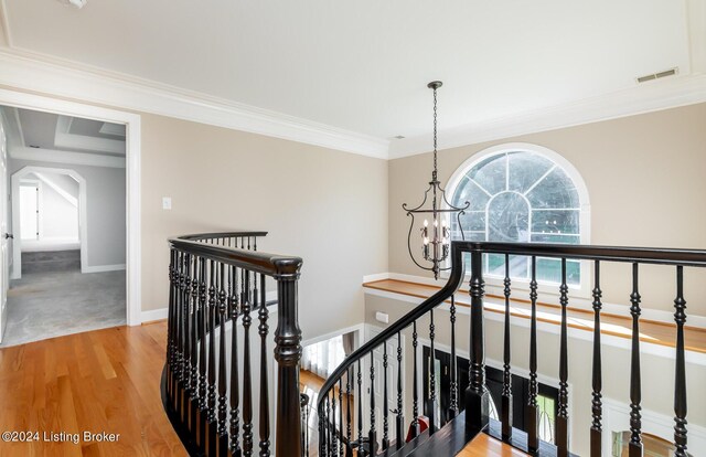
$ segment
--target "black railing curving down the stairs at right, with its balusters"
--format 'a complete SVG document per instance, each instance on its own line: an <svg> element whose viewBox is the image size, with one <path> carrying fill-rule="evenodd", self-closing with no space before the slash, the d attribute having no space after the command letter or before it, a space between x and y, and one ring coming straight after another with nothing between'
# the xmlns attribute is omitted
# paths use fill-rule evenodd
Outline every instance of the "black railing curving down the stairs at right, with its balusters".
<svg viewBox="0 0 706 457"><path fill-rule="evenodd" d="M483 300L485 296L484 256L486 254L495 254L504 257L504 329L503 329L503 389L502 402L500 411L500 424L492 423L490 415L490 393L485 382L485 336L484 336L484 316ZM457 341L456 336L459 329L456 328L456 304L454 294L466 280L464 257L470 257L470 328L463 332L470 342L470 361L469 361L469 384L464 391L464 404L459 404L459 373L457 370ZM531 327L530 327L530 382L528 382L528 402L523 405L524 414L527 417L525 426L526 433L513 428L512 411L512 365L511 365L511 297L512 279L510 273L511 256L524 256L528 262L530 269L530 301L531 301ZM601 435L602 435L602 402L601 402L601 332L600 332L600 312L602 308L602 290L601 290L601 265L605 263L629 263L632 265L631 290L625 291L625 298L630 300L630 313L632 319L631 332L631 355L630 355L630 434L629 443L630 457L641 456L643 454L642 442L642 422L641 422L641 368L640 368L640 313L641 313L641 296L639 285L640 266L644 264L664 265L674 268L676 297L674 299L674 320L676 322L675 347L675 387L674 387L674 455L680 457L687 456L687 429L686 429L686 370L685 370L685 347L684 347L684 326L686 323L686 300L684 291L684 269L702 268L706 266L706 251L688 251L688 249L664 249L664 248L638 248L638 247L606 247L606 246L577 246L577 245L550 245L550 244L522 244L522 243L472 243L472 242L453 242L451 246L451 272L447 284L429 299L414 308L399 320L393 322L379 334L371 339L361 348L349 355L344 362L336 368L333 374L324 382L317 404L319 415L319 455L320 456L351 456L351 443L365 443L366 446L359 448L357 456L377 455L385 451L387 456L395 455L396 449L400 449L405 444L405 429L408 424L404 418L405 398L411 397L413 417L409 419L411 436L420 434L420 396L417 379L417 351L418 351L418 322L420 318L428 318L429 331L428 341L432 360L435 357L435 331L438 325L434 320L434 311L441 304L450 299L449 325L451 329L451 366L450 376L451 384L448 392L449 397L445 398L445 404L450 405L450 417L457 417L459 411L464 408L464 438L470 440L480 432L490 433L491 428L498 434L498 437L512 446L518 447L532 454L542 453L542 455L568 456L569 454L569 408L568 408L568 322L567 309L569 305L569 286L567 284L567 259L576 259L589 262L592 264L592 308L593 308L593 347L592 347L592 407L591 407L591 426L590 431L590 455L597 457L601 455ZM539 408L537 403L538 383L537 383L537 299L538 299L538 280L537 280L537 259L554 258L559 259L560 265L560 283L556 286L559 304L560 304L560 336L559 336L559 389L558 389L558 407L556 416L556 446L548 445L539 439ZM587 278L584 278L588 280ZM425 320L426 321L426 320ZM388 363L386 342L399 342L402 332L411 327L411 344L414 350L413 359L413 380L411 392L403 389L399 381L403 378L403 352L398 351L396 363ZM383 373L375 372L375 363L373 361L373 351L379 347L384 347L384 361L382 363ZM365 358L371 359L368 373L365 373L370 380L370 393L365 393L362 383L363 372L361 362ZM396 366L395 366L396 365ZM430 364L434 366L432 364ZM391 369L392 366L392 369ZM382 392L384 407L381 417L376 417L375 404L375 376L384 376L387 380L388 370L397 370L398 382L396 392L388 392L387 382L385 382ZM357 373L357 379L355 379ZM437 431L434 415L437 411L439 398L436 397L435 370L429 370L429 398L427 401L428 417L428 437L432 437ZM345 411L344 407L343 385L345 385ZM357 389L356 389L357 385ZM336 392L338 387L338 392ZM357 403L357 406L351 405L351 397ZM389 398L388 398L389 397ZM395 407L397 417L395 419L394 432L389 429L389 405ZM338 425L336 410L339 411ZM351 412L357 410L357 414ZM363 431L363 419L367 421L367 428ZM352 436L352 423L355 421L357 425L357 438ZM453 419L451 419L452 422ZM343 438L343 439L341 439ZM448 440L448 436L443 437ZM429 438L430 440L431 438ZM417 439L422 445L422 439ZM458 439L457 439L458 442ZM435 455L438 449L443 446L436 446ZM456 455L460 449L447 447L449 455ZM407 449L409 450L409 449ZM405 450L404 455L409 453ZM426 455L420 453L419 455Z"/></svg>

